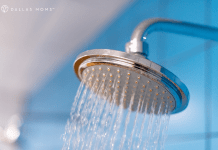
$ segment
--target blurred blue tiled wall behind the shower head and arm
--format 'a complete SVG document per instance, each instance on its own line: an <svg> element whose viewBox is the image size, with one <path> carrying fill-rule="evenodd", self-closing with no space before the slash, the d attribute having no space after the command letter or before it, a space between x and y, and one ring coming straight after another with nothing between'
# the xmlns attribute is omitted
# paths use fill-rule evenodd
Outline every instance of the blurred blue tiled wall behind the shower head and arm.
<svg viewBox="0 0 218 150"><path fill-rule="evenodd" d="M124 51L134 28L141 21L164 17L218 26L215 0L140 0L115 15L92 40L83 41L46 84L31 92L23 112L24 124L18 140L23 150L58 150L61 135L79 80L72 65L76 56L89 49ZM71 39L74 40L74 39ZM177 75L190 92L187 109L172 115L166 150L216 150L218 147L218 50L217 43L198 38L153 33L148 38L149 59Z"/></svg>

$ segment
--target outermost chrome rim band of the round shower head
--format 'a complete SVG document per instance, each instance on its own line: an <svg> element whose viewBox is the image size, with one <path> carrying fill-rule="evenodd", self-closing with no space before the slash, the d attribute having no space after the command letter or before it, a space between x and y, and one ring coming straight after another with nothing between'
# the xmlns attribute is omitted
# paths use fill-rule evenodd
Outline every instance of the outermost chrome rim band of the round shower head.
<svg viewBox="0 0 218 150"><path fill-rule="evenodd" d="M77 77L81 80L81 72L79 72L79 66L87 59L89 58L119 58L125 61L131 61L136 64L140 64L146 68L149 68L153 71L155 71L157 74L162 75L166 78L167 82L172 82L177 90L180 92L182 98L176 98L176 102L178 104L177 109L173 111L172 113L178 113L182 110L184 110L189 102L189 91L185 84L183 84L179 78L174 75L169 70L165 69L164 67L142 57L141 55L134 55L131 53L126 53L122 51L117 50L111 50L111 49L94 49L94 50L88 50L83 53L81 53L74 62L74 70L77 75ZM128 66L129 67L129 66ZM171 84L172 84L171 83ZM168 87L169 88L169 87ZM174 91L174 89L170 89L171 91ZM173 94L173 96L178 96L177 93Z"/></svg>

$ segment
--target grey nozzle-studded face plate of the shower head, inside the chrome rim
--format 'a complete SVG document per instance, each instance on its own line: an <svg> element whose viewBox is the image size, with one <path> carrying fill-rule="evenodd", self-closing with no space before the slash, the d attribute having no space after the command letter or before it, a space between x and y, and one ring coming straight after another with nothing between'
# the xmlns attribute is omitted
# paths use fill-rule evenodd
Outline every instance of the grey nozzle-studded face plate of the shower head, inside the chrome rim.
<svg viewBox="0 0 218 150"><path fill-rule="evenodd" d="M85 68L82 78L87 78L83 82L86 82L90 89L94 86L95 93L102 94L102 97L110 96L107 98L109 102L115 102L117 106L122 104L124 109L130 108L132 111L147 111L147 113L154 111L158 114L164 113L164 106L167 103L170 111L175 108L174 97L162 85L125 68L90 66ZM159 107L160 105L162 107Z"/></svg>

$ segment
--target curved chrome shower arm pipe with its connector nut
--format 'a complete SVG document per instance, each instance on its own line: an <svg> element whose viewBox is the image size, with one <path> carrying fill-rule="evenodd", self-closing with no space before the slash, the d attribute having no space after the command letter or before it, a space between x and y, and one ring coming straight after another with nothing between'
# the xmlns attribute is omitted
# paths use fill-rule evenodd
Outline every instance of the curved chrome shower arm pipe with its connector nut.
<svg viewBox="0 0 218 150"><path fill-rule="evenodd" d="M218 28L216 27L163 18L152 18L143 21L135 28L130 42L126 44L126 52L142 54L147 57L148 44L144 40L147 39L149 34L155 31L177 33L218 41Z"/></svg>

